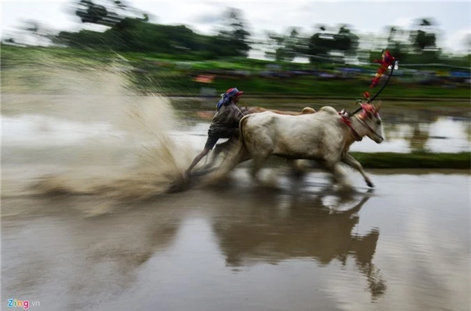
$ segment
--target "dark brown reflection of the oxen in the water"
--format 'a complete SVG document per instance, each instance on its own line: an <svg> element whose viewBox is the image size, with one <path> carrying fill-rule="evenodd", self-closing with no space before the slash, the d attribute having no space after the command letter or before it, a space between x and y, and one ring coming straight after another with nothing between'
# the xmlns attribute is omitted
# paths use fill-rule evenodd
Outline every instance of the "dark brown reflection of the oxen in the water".
<svg viewBox="0 0 471 311"><path fill-rule="evenodd" d="M360 198L257 192L253 204L234 215L236 219L217 220L213 229L227 266L234 268L289 259L313 259L326 267L337 260L345 267L352 259L374 300L387 289L372 262L380 232L377 228L353 232L370 197L368 192Z"/></svg>

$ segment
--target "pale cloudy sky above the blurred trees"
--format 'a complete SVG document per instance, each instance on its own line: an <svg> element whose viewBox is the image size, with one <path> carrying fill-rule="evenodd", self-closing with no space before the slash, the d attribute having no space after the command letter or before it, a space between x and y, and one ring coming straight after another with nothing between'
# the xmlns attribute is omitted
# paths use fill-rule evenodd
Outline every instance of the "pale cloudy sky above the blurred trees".
<svg viewBox="0 0 471 311"><path fill-rule="evenodd" d="M103 3L104 0L96 0ZM103 26L80 23L74 15L75 1L1 0L1 38L8 38L25 20L36 20L51 29L104 30ZM447 52L465 53L470 47L471 0L468 1L128 1L149 13L151 22L186 24L198 33L211 34L221 23L225 9L239 8L255 38L267 31L285 33L296 26L310 36L317 25L335 28L347 24L357 35L377 38L387 26L411 29L419 18L435 23L438 46ZM468 37L471 38L471 37Z"/></svg>

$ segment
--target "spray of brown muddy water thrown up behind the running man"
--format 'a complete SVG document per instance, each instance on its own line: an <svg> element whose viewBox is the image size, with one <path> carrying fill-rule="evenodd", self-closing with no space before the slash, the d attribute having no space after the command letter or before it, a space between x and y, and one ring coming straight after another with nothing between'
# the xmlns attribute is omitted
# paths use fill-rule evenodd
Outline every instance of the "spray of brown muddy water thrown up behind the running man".
<svg viewBox="0 0 471 311"><path fill-rule="evenodd" d="M25 75L33 69L16 71ZM95 141L70 147L63 172L43 174L33 181L36 195L93 195L119 202L145 200L163 194L169 184L183 184L193 151L172 139L178 126L168 98L140 96L126 70L93 68L41 69L36 89L15 91L15 77L3 90L2 114L39 114L61 119L103 122L119 137L103 133ZM63 149L60 150L63 152ZM98 199L98 198L97 198Z"/></svg>

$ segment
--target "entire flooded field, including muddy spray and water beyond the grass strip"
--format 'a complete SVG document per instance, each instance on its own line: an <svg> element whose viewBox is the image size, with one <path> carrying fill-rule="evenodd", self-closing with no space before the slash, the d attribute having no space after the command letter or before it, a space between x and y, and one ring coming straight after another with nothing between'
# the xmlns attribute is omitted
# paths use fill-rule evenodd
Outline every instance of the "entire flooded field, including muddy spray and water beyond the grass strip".
<svg viewBox="0 0 471 311"><path fill-rule="evenodd" d="M371 190L349 170L345 193L321 171L264 169L274 189L240 167L169 194L209 121L117 75L63 74L2 93L2 309L470 309L470 172L371 170ZM387 141L352 150L470 150L469 112L383 109Z"/></svg>

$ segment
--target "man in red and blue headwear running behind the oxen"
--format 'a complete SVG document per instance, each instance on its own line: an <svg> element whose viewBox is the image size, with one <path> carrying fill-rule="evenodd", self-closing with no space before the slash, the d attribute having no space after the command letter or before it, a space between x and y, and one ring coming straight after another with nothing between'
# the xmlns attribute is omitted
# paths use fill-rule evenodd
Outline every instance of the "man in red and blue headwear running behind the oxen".
<svg viewBox="0 0 471 311"><path fill-rule="evenodd" d="M213 149L219 139L239 137L239 121L244 114L237 107L237 103L239 103L239 96L243 93L243 91L239 91L234 87L221 95L222 98L216 105L216 114L209 126L208 139L206 144L204 144L204 149L196 155L193 162L186 169L185 175L187 177L190 176L191 169Z"/></svg>

